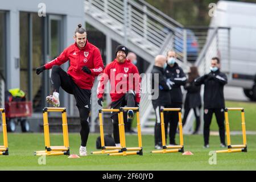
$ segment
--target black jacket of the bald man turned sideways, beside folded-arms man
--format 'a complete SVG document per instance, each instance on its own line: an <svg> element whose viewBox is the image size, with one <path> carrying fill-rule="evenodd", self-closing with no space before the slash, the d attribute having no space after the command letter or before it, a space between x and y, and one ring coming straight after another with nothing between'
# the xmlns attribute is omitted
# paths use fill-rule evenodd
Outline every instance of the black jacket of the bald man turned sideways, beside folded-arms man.
<svg viewBox="0 0 256 182"><path fill-rule="evenodd" d="M152 93L153 95L158 94L158 98L152 99L152 104L154 107L156 106L167 106L171 104L171 96L169 94L171 85L167 84L166 77L164 76L164 69L162 67L157 67L154 65L152 71L152 82L151 82L151 89L154 89L154 84L159 85L159 92ZM159 79L154 79L154 74L158 74Z"/></svg>

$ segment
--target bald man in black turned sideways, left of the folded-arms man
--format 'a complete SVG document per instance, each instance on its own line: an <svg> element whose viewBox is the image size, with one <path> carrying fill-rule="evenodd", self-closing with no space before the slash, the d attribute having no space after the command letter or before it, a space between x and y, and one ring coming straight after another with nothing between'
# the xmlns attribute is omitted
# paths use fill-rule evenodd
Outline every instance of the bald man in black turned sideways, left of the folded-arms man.
<svg viewBox="0 0 256 182"><path fill-rule="evenodd" d="M170 83L167 82L166 76L164 76L164 69L166 68L166 56L158 55L155 57L155 65L151 71L152 82L151 89L154 91L152 96L157 96L155 99L152 98L152 105L155 110L155 148L162 148L162 131L161 131L161 119L160 110L168 106L171 103L171 95L169 94L171 90ZM156 75L157 74L157 75ZM158 79L156 79L158 76ZM156 78L155 78L156 77ZM154 88L158 86L158 88ZM158 93L156 93L158 92Z"/></svg>

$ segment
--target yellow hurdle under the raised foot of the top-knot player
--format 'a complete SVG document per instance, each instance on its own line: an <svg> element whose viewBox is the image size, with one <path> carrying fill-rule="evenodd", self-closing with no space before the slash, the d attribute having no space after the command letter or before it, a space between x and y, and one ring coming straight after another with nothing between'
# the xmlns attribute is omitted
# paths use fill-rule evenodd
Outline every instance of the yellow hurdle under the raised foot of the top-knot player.
<svg viewBox="0 0 256 182"><path fill-rule="evenodd" d="M50 145L48 112L62 113L61 116L62 116L64 146ZM36 151L35 155L69 155L68 123L67 123L66 108L65 107L44 107L43 122L44 122L44 143L46 146L46 150Z"/></svg>

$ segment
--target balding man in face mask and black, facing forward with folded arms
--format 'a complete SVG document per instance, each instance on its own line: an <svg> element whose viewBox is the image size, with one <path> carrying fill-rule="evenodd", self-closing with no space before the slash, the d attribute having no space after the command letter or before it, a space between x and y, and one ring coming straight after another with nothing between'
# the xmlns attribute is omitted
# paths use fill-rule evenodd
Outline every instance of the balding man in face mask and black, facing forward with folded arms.
<svg viewBox="0 0 256 182"><path fill-rule="evenodd" d="M185 85L187 77L183 72L183 69L176 63L176 53L174 51L167 52L167 67L164 70L164 74L167 77L167 82L171 84L172 90L169 91L171 97L171 103L167 106L170 108L182 108L182 92L181 85ZM179 122L179 114L177 111L168 111L164 115L164 127L166 135L168 131L168 123L170 122L170 145L176 145L175 135L177 130L177 124Z"/></svg>

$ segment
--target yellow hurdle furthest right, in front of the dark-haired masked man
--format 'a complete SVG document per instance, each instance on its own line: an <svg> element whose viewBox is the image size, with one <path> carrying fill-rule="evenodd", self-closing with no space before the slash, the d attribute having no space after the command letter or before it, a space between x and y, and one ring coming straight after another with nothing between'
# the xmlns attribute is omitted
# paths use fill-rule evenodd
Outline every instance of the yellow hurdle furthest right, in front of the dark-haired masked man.
<svg viewBox="0 0 256 182"><path fill-rule="evenodd" d="M241 111L243 144L236 144L236 145L231 144L228 111ZM247 152L246 130L245 130L245 110L240 107L225 108L225 124L226 124L226 139L228 143L228 150L217 150L216 153Z"/></svg>

